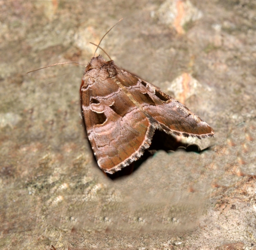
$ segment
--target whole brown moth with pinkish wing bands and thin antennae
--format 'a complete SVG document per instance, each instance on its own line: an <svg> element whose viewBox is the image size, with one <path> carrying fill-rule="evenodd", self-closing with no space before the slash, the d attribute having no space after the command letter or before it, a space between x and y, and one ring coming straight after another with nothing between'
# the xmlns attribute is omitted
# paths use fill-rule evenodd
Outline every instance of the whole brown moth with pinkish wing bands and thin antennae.
<svg viewBox="0 0 256 250"><path fill-rule="evenodd" d="M138 160L157 129L200 139L214 136L213 129L180 102L118 67L111 58L96 57L99 45L87 65L58 64L85 66L82 112L88 139L105 173L113 174Z"/></svg>

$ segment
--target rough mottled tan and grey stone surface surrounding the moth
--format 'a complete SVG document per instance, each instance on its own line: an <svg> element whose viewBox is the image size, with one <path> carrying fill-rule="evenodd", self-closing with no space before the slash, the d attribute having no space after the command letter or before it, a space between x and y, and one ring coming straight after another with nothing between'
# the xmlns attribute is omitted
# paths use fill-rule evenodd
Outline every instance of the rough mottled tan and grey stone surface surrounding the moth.
<svg viewBox="0 0 256 250"><path fill-rule="evenodd" d="M256 1L191 0L203 15L182 35L163 2L0 0L1 249L256 249ZM88 62L120 18L101 46L166 92L189 73L183 101L216 138L110 180L80 118L83 67L25 72Z"/></svg>

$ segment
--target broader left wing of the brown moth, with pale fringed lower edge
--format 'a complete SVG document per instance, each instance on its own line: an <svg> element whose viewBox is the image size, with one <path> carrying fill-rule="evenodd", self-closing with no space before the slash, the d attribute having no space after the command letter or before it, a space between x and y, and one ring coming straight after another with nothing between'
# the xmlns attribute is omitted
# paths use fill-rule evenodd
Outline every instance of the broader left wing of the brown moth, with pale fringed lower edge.
<svg viewBox="0 0 256 250"><path fill-rule="evenodd" d="M143 154L155 126L112 78L83 80L81 101L88 138L100 168L114 173Z"/></svg>

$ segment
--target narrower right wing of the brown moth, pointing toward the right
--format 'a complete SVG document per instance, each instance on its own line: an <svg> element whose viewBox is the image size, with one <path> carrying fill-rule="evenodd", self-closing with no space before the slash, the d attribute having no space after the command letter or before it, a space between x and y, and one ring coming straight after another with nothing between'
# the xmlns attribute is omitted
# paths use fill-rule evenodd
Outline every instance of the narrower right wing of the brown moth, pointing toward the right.
<svg viewBox="0 0 256 250"><path fill-rule="evenodd" d="M128 72L117 69L118 80L131 93L142 109L166 133L198 138L213 137L213 129L187 107L157 87Z"/></svg>

